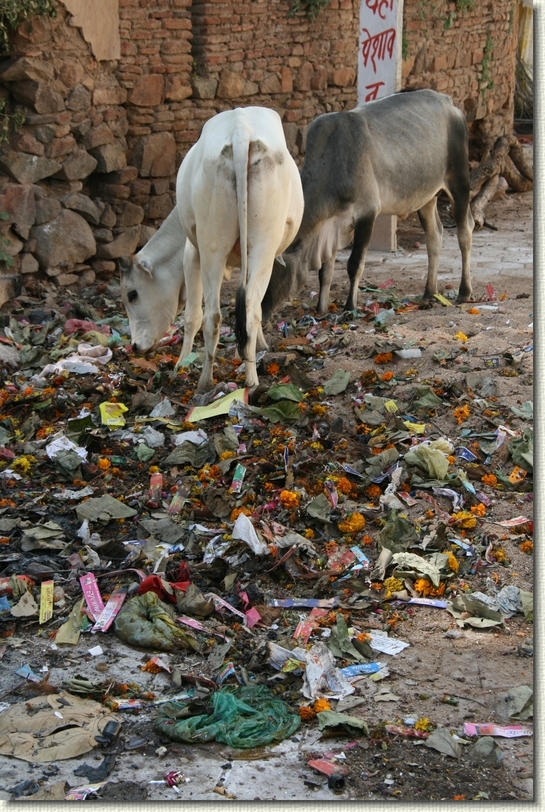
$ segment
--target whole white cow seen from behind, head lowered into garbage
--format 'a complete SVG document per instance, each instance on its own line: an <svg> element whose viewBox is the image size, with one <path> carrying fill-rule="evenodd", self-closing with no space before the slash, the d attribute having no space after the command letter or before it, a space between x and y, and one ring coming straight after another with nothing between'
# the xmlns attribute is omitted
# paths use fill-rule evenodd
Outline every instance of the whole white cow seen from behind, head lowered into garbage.
<svg viewBox="0 0 545 812"><path fill-rule="evenodd" d="M275 257L297 233L304 205L278 113L237 108L207 121L180 166L176 199L176 208L145 247L132 261L120 261L133 348L147 352L156 346L185 303L179 363L203 323L204 294L205 360L198 389L210 389L221 284L240 267L235 334L246 362L246 385L256 386L256 347L266 347L261 300Z"/></svg>

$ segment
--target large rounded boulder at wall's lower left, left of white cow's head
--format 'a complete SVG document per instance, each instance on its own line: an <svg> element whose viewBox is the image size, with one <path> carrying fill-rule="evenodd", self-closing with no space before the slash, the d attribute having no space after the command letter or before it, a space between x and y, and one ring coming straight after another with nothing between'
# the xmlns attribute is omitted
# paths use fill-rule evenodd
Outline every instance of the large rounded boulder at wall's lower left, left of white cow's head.
<svg viewBox="0 0 545 812"><path fill-rule="evenodd" d="M34 253L42 268L67 267L84 262L96 253L96 241L89 223L69 209L62 209L52 222L34 226Z"/></svg>

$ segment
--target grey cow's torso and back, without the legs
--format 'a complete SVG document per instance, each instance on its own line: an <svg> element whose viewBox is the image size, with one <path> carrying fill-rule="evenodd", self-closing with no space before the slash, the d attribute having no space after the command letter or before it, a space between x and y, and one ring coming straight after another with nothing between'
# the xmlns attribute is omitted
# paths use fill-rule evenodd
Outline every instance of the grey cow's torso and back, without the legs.
<svg viewBox="0 0 545 812"><path fill-rule="evenodd" d="M298 240L339 208L362 202L379 202L384 214L415 211L422 190L435 194L438 179L460 166L466 144L463 114L450 97L432 90L398 93L319 116L309 127L301 171L306 205Z"/></svg>

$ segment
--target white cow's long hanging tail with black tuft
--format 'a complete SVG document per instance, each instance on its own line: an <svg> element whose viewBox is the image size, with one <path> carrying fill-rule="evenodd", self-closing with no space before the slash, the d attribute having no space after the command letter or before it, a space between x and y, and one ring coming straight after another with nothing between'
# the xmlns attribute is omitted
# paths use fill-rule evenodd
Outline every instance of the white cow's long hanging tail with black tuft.
<svg viewBox="0 0 545 812"><path fill-rule="evenodd" d="M248 343L246 286L248 284L248 166L250 163L250 131L242 124L233 136L233 163L235 168L238 223L240 230L240 285L235 304L235 337L241 358L245 357Z"/></svg>

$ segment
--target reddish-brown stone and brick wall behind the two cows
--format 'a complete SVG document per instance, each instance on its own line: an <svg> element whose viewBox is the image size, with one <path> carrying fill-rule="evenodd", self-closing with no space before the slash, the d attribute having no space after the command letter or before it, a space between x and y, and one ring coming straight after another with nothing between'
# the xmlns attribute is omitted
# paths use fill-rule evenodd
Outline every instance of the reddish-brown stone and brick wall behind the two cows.
<svg viewBox="0 0 545 812"><path fill-rule="evenodd" d="M308 124L356 105L359 0L331 0L313 21L290 17L291 0L101 0L119 28L110 61L81 2L21 26L0 63L0 97L26 115L0 146L0 232L29 290L107 279L144 245L215 113L273 107L301 161ZM478 155L512 128L515 4L462 5L405 0L403 84L452 95Z"/></svg>

